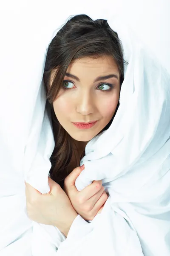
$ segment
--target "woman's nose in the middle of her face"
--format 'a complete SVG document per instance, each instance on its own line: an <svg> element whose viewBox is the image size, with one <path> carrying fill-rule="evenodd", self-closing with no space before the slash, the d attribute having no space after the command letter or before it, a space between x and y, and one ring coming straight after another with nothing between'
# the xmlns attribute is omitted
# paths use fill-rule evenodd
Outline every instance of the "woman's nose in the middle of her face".
<svg viewBox="0 0 170 256"><path fill-rule="evenodd" d="M83 116L87 116L94 113L95 102L90 93L82 93L82 95L77 100L77 112L81 113Z"/></svg>

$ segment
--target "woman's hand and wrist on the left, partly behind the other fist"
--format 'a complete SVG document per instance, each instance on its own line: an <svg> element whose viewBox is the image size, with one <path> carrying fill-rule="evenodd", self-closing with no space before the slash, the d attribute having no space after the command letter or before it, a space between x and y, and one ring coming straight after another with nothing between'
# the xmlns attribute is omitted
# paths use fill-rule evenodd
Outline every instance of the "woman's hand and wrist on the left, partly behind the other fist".
<svg viewBox="0 0 170 256"><path fill-rule="evenodd" d="M55 226L67 236L77 212L59 184L50 177L48 183L50 192L41 194L25 182L28 217L38 223Z"/></svg>

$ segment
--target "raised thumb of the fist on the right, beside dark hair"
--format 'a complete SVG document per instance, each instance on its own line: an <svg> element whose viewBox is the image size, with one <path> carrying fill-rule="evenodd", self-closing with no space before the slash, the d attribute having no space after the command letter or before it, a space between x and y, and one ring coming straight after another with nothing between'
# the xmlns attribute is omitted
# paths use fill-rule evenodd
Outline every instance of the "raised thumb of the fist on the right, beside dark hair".
<svg viewBox="0 0 170 256"><path fill-rule="evenodd" d="M65 189L66 190L76 190L77 188L75 186L75 181L77 179L77 177L79 177L80 173L82 172L82 170L85 169L84 164L82 166L79 166L77 168L75 168L66 178L65 178Z"/></svg>

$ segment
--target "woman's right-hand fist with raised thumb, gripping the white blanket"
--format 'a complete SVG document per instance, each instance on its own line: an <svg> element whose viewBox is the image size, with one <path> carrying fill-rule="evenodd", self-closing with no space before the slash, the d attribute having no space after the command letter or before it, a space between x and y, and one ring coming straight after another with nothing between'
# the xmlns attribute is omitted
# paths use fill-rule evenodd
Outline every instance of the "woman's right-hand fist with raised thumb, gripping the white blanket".
<svg viewBox="0 0 170 256"><path fill-rule="evenodd" d="M81 168L77 167L65 178L64 191L77 213L85 220L91 221L102 211L108 195L102 186L102 180L93 181L85 189L78 191L75 181L81 171Z"/></svg>

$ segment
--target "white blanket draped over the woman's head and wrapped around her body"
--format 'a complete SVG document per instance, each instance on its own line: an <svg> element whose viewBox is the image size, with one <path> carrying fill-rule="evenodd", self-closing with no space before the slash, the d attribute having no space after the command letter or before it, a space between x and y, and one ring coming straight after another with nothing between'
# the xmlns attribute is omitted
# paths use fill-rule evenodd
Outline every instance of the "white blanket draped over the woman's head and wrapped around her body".
<svg viewBox="0 0 170 256"><path fill-rule="evenodd" d="M21 7L15 10L16 17L23 12L17 22L9 19L11 8L1 23L6 24L1 30L6 40L0 42L4 81L0 94L0 255L115 255L116 250L117 256L134 250L130 255L136 256L141 255L141 246L145 256L170 255L170 75L128 34L125 25L122 29L111 20L108 23L122 39L129 62L121 106L111 128L88 143L82 161L85 170L76 182L82 189L102 178L110 198L90 224L78 216L67 239L55 227L33 225L23 212L24 179L40 192L48 191L48 158L54 141L44 115L45 92L40 81L51 31L62 22L61 17L56 24L41 18L40 26L34 6L30 10L25 6L24 11Z"/></svg>

